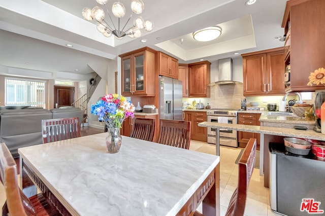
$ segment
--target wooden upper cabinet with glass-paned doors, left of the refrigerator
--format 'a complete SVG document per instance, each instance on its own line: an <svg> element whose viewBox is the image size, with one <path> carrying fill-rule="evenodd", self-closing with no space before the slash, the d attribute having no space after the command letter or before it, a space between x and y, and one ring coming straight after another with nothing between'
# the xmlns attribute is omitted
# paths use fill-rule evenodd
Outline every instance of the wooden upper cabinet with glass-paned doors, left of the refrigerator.
<svg viewBox="0 0 325 216"><path fill-rule="evenodd" d="M156 51L144 47L120 57L122 95L155 96Z"/></svg>

